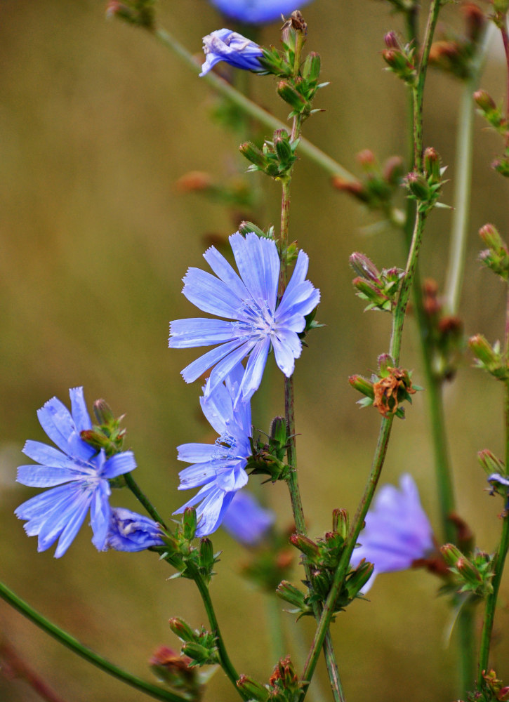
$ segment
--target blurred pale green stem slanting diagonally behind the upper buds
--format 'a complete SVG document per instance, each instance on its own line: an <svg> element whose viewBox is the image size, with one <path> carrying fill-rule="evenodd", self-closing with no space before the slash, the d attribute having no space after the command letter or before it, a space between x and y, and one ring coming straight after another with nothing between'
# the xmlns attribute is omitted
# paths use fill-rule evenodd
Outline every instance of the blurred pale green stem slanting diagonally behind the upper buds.
<svg viewBox="0 0 509 702"><path fill-rule="evenodd" d="M157 27L154 29L154 37L158 39L161 44L164 44L167 48L170 48L173 53L175 53L180 60L182 60L187 67L192 69L192 72L196 75L197 68L199 68L199 62L197 62L192 53L187 51L186 48L179 44L179 42L171 36L166 29L162 27ZM287 125L281 120L274 117L270 112L263 110L262 107L256 105L256 102L249 100L245 95L242 95L233 86L231 86L227 81L220 78L216 73L209 72L202 79L206 84L209 84L215 91L221 93L226 98L228 98L239 110L243 110L247 114L250 114L253 119L256 119L260 124L265 124L272 131L275 129L286 129ZM315 162L318 166L324 169L326 173L330 176L341 176L350 183L357 183L357 178L347 171L346 168L338 164L337 161L331 159L326 153L320 150L317 146L312 144L305 138L300 140L298 145L299 153L304 154Z"/></svg>

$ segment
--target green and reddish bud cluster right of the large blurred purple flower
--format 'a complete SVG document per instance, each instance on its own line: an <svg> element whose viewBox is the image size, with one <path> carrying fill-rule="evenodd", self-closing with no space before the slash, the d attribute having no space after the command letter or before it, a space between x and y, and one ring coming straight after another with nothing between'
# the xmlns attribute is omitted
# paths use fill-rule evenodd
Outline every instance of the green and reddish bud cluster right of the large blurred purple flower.
<svg viewBox="0 0 509 702"><path fill-rule="evenodd" d="M449 571L455 576L457 592L483 598L493 592L491 578L494 571L492 557L488 553L476 548L468 558L453 543L441 546L440 552Z"/></svg>

